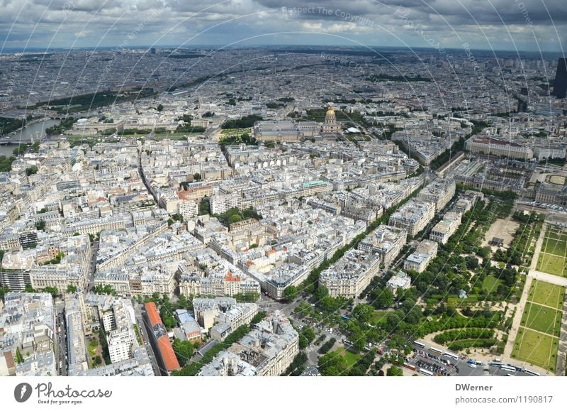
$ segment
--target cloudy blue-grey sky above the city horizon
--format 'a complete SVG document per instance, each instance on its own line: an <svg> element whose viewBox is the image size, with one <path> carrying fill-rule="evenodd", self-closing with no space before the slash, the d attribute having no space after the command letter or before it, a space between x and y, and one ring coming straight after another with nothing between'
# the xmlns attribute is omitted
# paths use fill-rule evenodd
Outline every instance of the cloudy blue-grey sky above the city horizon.
<svg viewBox="0 0 567 411"><path fill-rule="evenodd" d="M7 48L567 49L567 0L0 0Z"/></svg>

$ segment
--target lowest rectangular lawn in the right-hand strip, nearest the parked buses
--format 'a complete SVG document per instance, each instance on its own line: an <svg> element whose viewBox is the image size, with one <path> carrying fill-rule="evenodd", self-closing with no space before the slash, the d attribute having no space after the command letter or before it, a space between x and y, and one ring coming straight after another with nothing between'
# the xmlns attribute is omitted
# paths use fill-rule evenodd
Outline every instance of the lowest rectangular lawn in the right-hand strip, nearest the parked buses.
<svg viewBox="0 0 567 411"><path fill-rule="evenodd" d="M512 358L555 372L559 339L520 327Z"/></svg>

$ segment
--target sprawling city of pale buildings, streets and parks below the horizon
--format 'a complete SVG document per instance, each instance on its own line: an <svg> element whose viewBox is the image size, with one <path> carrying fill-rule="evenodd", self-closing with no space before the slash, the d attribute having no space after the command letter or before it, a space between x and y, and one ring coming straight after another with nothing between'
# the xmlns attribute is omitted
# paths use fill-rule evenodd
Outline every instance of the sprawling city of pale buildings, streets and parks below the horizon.
<svg viewBox="0 0 567 411"><path fill-rule="evenodd" d="M444 51L0 54L0 375L566 375L566 59Z"/></svg>

